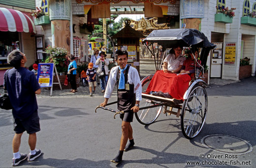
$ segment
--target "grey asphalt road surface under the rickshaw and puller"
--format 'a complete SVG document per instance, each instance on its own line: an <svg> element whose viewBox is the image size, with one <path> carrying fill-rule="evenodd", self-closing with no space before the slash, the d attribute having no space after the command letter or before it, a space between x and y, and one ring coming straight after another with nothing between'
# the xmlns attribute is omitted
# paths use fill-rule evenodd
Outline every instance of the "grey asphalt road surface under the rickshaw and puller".
<svg viewBox="0 0 256 168"><path fill-rule="evenodd" d="M132 122L136 147L125 152L123 162L111 163L119 149L121 120L113 119L113 113L103 110L94 112L103 101L102 94L86 95L88 88L79 88L80 95L68 95L68 91L50 98L49 91L38 96L41 131L37 148L43 156L35 162L25 161L19 167L87 167L87 168L255 168L256 152L238 155L237 159L200 159L199 155L223 153L212 151L201 144L206 135L231 135L248 141L256 147L256 77L224 86L212 85L207 89L209 106L206 124L194 139L184 138L180 119L161 114L157 122L144 126L136 119ZM63 96L64 95L64 96ZM111 100L116 100L112 96ZM110 101L111 101L110 100ZM112 105L116 108L116 105ZM0 110L0 167L10 167L12 158L11 111ZM28 135L22 137L21 152L29 152ZM227 144L228 145L228 142ZM239 142L232 144L241 147ZM210 156L210 155L209 155ZM251 165L187 165L187 161L250 161Z"/></svg>

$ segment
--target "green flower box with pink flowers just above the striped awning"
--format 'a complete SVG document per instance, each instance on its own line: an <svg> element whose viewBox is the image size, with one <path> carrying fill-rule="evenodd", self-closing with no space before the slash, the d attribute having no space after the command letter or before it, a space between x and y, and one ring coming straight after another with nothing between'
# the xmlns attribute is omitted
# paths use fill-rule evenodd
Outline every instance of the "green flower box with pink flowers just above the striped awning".
<svg viewBox="0 0 256 168"><path fill-rule="evenodd" d="M36 7L36 11L30 12L31 16L34 16L34 24L35 25L44 25L44 24L50 24L50 18L49 16L46 16L44 11L41 7Z"/></svg>

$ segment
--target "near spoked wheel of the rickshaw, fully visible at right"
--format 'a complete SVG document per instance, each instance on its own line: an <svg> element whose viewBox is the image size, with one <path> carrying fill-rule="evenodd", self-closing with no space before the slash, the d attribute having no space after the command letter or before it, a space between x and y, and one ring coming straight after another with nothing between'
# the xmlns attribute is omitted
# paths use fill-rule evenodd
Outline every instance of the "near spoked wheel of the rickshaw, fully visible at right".
<svg viewBox="0 0 256 168"><path fill-rule="evenodd" d="M201 131L208 108L206 90L202 86L194 86L188 99L183 102L181 112L181 129L183 135L192 139Z"/></svg>

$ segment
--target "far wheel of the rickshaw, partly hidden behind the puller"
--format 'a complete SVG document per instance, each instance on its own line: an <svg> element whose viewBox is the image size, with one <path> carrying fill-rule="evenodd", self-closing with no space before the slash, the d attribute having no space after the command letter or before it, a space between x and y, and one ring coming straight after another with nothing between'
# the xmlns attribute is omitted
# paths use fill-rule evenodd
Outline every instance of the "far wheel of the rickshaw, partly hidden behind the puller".
<svg viewBox="0 0 256 168"><path fill-rule="evenodd" d="M141 80L142 92L145 92L147 90L152 77L153 77L153 74L150 74ZM146 107L146 106L154 105L156 103L159 103L159 102L142 98L142 100L140 101L140 107ZM155 107L155 108L148 108L144 110L139 110L134 115L136 119L139 121L139 123L143 125L147 125L157 120L157 118L161 113L161 110L162 110L162 106Z"/></svg>

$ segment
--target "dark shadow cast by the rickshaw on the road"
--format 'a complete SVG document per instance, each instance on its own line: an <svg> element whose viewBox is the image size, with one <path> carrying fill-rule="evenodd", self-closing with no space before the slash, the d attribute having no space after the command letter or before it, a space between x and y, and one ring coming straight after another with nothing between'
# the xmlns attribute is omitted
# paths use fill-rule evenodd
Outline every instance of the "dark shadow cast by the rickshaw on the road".
<svg viewBox="0 0 256 168"><path fill-rule="evenodd" d="M213 135L213 134L223 134L223 135L231 135L237 138L241 138L246 140L252 146L256 145L256 121L254 120L245 120L245 121L235 121L235 122L215 122L211 124L205 123L201 132L192 140L190 140L191 144L197 147L203 147L201 145L201 139L206 135ZM179 139L185 138L181 131L180 120L179 119L165 119L156 121L150 125L145 125L145 129L151 132L158 132L158 133L178 133L177 138L171 142L165 148L167 149L172 144L175 144ZM177 129L179 129L177 131ZM174 130L174 131L172 131ZM167 136L167 134L166 134Z"/></svg>

